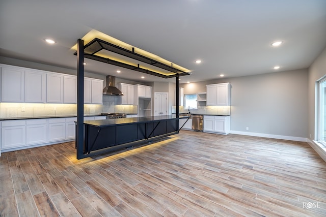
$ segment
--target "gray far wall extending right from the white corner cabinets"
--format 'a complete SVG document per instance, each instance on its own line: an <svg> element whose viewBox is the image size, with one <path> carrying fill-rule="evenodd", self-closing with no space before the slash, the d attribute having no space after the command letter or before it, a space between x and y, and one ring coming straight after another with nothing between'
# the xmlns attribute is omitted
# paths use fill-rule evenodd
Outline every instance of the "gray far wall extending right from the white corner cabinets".
<svg viewBox="0 0 326 217"><path fill-rule="evenodd" d="M307 138L308 70L182 84L184 94L231 83L231 131ZM249 131L246 131L249 127Z"/></svg>

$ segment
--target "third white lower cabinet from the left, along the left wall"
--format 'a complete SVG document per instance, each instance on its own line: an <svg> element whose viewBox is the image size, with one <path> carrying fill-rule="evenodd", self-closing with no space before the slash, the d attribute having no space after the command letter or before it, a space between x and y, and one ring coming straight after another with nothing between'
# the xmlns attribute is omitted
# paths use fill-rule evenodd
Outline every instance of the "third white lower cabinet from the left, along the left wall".
<svg viewBox="0 0 326 217"><path fill-rule="evenodd" d="M49 142L66 139L66 118L49 119Z"/></svg>

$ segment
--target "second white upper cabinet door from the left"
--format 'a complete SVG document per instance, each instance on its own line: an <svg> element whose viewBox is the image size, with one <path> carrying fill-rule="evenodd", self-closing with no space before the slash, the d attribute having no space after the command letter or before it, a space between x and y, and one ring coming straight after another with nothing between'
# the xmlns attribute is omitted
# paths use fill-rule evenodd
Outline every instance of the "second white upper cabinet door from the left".
<svg viewBox="0 0 326 217"><path fill-rule="evenodd" d="M25 71L25 102L45 103L46 73Z"/></svg>

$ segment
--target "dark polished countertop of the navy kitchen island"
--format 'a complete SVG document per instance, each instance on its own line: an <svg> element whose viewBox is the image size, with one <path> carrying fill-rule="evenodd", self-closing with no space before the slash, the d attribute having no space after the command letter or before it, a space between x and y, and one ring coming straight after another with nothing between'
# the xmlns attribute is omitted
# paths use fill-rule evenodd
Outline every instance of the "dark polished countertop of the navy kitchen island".
<svg viewBox="0 0 326 217"><path fill-rule="evenodd" d="M173 120L173 119L184 119L189 118L188 116L180 115L178 118L176 115L161 115L161 116L146 116L146 117L127 117L127 118L115 118L115 119L104 119L104 120L85 120L84 124L94 127L108 127L116 125L126 125L130 123L146 123L146 122L157 122L161 120Z"/></svg>

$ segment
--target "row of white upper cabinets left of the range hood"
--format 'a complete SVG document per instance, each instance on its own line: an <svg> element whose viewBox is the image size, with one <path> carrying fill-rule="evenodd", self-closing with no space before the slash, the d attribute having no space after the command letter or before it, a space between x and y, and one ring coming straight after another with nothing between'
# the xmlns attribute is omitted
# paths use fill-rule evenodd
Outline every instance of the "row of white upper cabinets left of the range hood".
<svg viewBox="0 0 326 217"><path fill-rule="evenodd" d="M0 64L0 102L77 103L77 76ZM103 80L85 78L84 103L103 103Z"/></svg>

